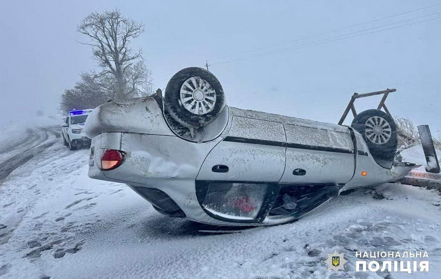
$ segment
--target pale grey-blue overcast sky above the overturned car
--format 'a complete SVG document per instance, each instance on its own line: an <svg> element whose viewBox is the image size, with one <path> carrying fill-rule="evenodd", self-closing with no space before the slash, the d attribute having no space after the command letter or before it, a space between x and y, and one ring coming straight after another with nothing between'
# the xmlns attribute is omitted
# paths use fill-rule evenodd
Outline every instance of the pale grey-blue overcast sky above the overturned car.
<svg viewBox="0 0 441 279"><path fill-rule="evenodd" d="M396 88L386 102L390 112L416 124L430 124L435 133L441 130L441 18L426 21L441 17L441 5L435 4L429 0L4 1L0 117L8 120L35 115L38 109L59 110L63 90L74 86L80 72L95 66L90 48L76 42L85 40L76 25L90 12L117 7L145 24L145 33L132 47L143 49L155 87L165 88L176 71L203 66L208 59L228 105L333 123L354 92ZM383 17L388 18L354 26ZM425 22L410 24L417 21ZM406 26L394 28L398 25ZM384 27L375 29L378 26ZM386 28L391 29L377 32ZM329 33L336 29L341 30ZM322 33L326 34L311 37ZM352 37L338 37L344 34ZM305 37L309 38L300 40ZM256 49L260 50L253 52ZM215 59L219 57L224 58ZM370 98L358 103L357 109L377 104L378 98Z"/></svg>

